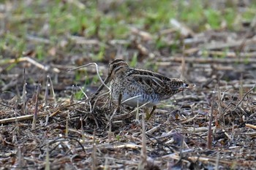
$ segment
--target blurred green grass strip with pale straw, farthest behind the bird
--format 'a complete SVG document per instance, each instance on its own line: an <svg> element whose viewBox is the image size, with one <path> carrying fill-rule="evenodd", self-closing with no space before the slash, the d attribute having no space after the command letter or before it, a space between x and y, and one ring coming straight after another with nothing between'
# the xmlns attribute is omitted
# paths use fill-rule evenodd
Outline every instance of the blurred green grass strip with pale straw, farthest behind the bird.
<svg viewBox="0 0 256 170"><path fill-rule="evenodd" d="M172 18L200 33L241 31L255 15L256 1L249 0L1 1L0 59L33 53L38 61L70 55L98 61L105 56L106 42L129 39L131 27L153 34L162 47L160 33L172 28ZM78 45L73 36L98 41Z"/></svg>

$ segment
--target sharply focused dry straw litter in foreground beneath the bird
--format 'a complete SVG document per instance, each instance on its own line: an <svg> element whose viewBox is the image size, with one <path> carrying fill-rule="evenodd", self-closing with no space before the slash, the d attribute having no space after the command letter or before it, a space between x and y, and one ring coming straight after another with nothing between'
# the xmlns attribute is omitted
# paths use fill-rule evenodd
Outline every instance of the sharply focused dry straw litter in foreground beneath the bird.
<svg viewBox="0 0 256 170"><path fill-rule="evenodd" d="M46 111L41 103L34 130L32 117L19 120L23 116L21 101L16 103L16 108L10 107L10 103L1 103L1 166L42 169L49 154L51 169L137 169L145 152L148 165L151 165L148 169L207 168L216 166L217 162L219 169L256 166L256 134L249 126L254 125L256 117L252 90L243 98L238 93L221 93L222 98L219 100L215 96L213 104L207 102L207 96L200 98L195 92L188 93L194 98L184 101L180 95L175 109L159 109L146 122L146 139L143 138L143 124L134 121L135 114L122 107L121 113L113 115L115 106L109 107L106 97L99 98L92 112L89 100L74 104L67 100L57 107L50 106L49 102ZM27 104L29 110L35 109L34 102ZM208 136L211 108L214 120L211 136ZM53 112L57 113L51 116ZM7 117L16 119L4 121ZM207 149L208 137L211 138L210 150ZM146 150L142 149L143 141Z"/></svg>

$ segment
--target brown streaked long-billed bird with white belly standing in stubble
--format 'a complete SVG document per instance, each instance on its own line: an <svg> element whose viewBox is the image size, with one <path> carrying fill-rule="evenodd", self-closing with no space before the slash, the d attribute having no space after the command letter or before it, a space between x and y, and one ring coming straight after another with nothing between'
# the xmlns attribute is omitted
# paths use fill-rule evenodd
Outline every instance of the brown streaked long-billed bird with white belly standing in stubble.
<svg viewBox="0 0 256 170"><path fill-rule="evenodd" d="M157 104L185 89L194 88L178 78L168 78L162 74L144 69L135 69L122 59L116 59L108 65L108 76L104 84L94 93L97 96L110 82L110 96L121 104L129 107L152 107L151 117Z"/></svg>

